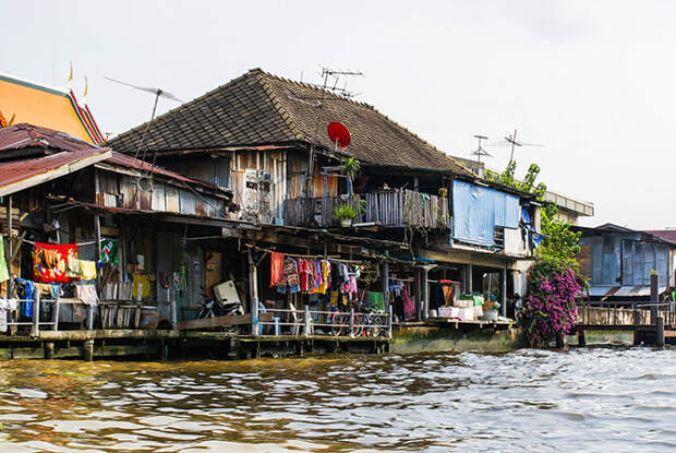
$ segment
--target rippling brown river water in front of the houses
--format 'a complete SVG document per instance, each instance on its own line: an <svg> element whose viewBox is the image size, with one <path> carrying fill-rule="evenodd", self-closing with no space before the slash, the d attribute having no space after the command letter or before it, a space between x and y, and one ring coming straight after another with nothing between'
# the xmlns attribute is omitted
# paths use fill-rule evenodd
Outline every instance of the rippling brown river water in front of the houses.
<svg viewBox="0 0 676 453"><path fill-rule="evenodd" d="M0 361L0 451L673 451L676 349Z"/></svg>

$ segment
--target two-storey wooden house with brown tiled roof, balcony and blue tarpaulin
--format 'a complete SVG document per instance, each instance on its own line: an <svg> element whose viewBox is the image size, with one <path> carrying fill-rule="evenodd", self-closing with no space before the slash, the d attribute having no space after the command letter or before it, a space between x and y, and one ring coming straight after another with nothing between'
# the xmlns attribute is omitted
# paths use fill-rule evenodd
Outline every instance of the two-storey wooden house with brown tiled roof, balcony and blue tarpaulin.
<svg viewBox="0 0 676 453"><path fill-rule="evenodd" d="M331 143L331 122L348 128L349 146ZM233 192L231 219L255 227L225 228L225 241L351 257L376 248L417 283L419 313L426 278L498 293L503 307L523 286L539 230L533 198L483 180L374 107L329 90L251 70L108 142L125 154L140 143L146 159ZM341 172L350 157L361 165L354 181ZM357 211L348 228L334 216L343 204ZM341 239L326 243L327 234Z"/></svg>

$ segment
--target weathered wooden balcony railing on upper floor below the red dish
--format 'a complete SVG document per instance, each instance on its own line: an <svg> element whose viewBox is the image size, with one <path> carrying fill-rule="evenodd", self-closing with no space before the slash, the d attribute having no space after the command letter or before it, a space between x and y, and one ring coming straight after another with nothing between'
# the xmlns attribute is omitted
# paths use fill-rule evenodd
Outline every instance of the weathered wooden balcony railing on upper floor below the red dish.
<svg viewBox="0 0 676 453"><path fill-rule="evenodd" d="M363 212L359 208L363 205ZM450 228L448 199L412 190L388 190L355 195L285 200L285 225L339 227L334 208L350 204L358 211L353 224L382 227Z"/></svg>

